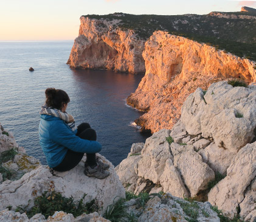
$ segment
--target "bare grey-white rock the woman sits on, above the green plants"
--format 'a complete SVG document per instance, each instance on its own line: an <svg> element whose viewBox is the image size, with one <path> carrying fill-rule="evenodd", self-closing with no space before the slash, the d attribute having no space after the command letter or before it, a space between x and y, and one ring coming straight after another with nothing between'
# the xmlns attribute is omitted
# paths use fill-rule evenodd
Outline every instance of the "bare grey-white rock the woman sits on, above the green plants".
<svg viewBox="0 0 256 222"><path fill-rule="evenodd" d="M100 158L108 162L103 156ZM74 200L80 200L87 193L85 202L97 198L103 203L104 211L109 204L112 204L115 197L125 197L125 189L119 181L114 166L108 163L111 165L110 175L104 180L86 177L83 173L84 160L74 169L56 176L50 173L49 167L38 166L19 180L7 180L0 184L0 210L10 205L13 209L19 205L28 206L29 209L33 206L33 199L49 190L50 184L53 184L55 191L61 192L64 197L72 196Z"/></svg>

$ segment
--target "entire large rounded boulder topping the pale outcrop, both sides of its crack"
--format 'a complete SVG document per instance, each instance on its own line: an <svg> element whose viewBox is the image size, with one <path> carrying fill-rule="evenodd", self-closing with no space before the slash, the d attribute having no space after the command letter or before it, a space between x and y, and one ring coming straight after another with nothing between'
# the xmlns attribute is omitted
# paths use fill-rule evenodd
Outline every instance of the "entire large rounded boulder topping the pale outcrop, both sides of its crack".
<svg viewBox="0 0 256 222"><path fill-rule="evenodd" d="M181 121L190 135L202 133L217 146L238 152L255 138L255 96L255 87L215 82L206 95L198 88L185 100Z"/></svg>

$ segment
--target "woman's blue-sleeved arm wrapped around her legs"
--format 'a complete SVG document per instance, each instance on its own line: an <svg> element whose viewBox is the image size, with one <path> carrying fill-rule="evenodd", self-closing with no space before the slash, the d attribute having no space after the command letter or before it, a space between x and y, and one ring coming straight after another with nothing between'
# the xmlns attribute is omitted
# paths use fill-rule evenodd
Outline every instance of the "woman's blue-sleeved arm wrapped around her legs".
<svg viewBox="0 0 256 222"><path fill-rule="evenodd" d="M97 153L102 150L102 145L97 141L83 140L76 136L61 119L52 124L49 130L50 140L61 144L67 149L80 153Z"/></svg>

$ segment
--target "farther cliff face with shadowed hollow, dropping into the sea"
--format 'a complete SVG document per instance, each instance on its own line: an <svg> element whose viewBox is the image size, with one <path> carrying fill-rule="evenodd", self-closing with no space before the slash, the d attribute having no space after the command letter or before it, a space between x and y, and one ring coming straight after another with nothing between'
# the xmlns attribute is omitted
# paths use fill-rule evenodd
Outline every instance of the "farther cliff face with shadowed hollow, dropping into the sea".
<svg viewBox="0 0 256 222"><path fill-rule="evenodd" d="M118 28L120 20L90 19L81 16L67 64L73 69L108 69L119 72L145 72L142 51L145 41L133 30Z"/></svg>

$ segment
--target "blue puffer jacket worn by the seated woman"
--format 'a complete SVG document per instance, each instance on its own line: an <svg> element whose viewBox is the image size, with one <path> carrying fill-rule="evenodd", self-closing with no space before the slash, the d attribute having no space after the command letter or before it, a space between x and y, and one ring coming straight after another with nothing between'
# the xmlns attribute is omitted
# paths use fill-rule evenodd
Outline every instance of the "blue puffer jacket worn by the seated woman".
<svg viewBox="0 0 256 222"><path fill-rule="evenodd" d="M83 140L75 133L77 130L73 132L60 118L41 115L39 139L49 167L58 166L63 161L68 149L80 153L100 152L102 146L99 142Z"/></svg>

